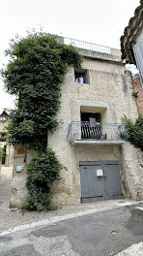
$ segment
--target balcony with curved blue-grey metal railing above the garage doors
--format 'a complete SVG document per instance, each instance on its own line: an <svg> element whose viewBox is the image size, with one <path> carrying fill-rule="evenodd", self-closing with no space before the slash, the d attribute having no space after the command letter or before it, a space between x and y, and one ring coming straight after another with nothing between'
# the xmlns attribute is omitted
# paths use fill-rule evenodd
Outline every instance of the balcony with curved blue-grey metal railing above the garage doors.
<svg viewBox="0 0 143 256"><path fill-rule="evenodd" d="M72 122L67 135L72 144L124 144L128 139L122 123Z"/></svg>

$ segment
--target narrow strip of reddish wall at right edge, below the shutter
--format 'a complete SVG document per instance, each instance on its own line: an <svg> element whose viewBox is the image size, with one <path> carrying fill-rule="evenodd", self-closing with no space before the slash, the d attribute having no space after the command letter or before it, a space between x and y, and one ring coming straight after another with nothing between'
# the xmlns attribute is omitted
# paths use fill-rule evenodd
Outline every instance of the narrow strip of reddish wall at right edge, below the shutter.
<svg viewBox="0 0 143 256"><path fill-rule="evenodd" d="M137 93L136 104L138 108L138 114L143 117L143 87L139 74L133 77L133 87L134 92Z"/></svg>

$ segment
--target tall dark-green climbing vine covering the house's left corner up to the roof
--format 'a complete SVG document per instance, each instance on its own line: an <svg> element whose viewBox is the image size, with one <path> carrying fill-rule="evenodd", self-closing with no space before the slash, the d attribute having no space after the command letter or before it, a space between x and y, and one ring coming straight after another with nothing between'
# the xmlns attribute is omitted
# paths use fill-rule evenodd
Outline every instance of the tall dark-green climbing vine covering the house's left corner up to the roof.
<svg viewBox="0 0 143 256"><path fill-rule="evenodd" d="M53 165L47 161L51 155L51 150L46 151L47 132L53 132L59 124L56 116L60 109L61 84L68 65L79 68L82 60L75 48L58 41L46 33L28 34L26 38L12 41L6 51L11 60L2 70L6 90L16 95L16 108L10 112L9 142L28 144L39 152L28 166L29 208L31 205L32 208L42 209L42 206L45 208L44 203L50 201L47 199L50 198L50 189L45 185L47 178L45 182L40 182L36 176L39 174L42 178L43 173L44 177L53 174ZM54 155L53 164L56 161ZM60 163L54 166L50 182L59 178L61 168ZM35 195L32 196L33 191ZM39 202L41 206L37 202L39 196L43 197L43 203Z"/></svg>

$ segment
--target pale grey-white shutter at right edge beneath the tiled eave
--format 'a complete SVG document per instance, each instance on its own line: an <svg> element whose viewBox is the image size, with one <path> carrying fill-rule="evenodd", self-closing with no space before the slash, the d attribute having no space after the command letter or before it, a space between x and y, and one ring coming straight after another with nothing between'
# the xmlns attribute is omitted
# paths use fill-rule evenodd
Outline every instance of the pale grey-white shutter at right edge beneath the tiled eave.
<svg viewBox="0 0 143 256"><path fill-rule="evenodd" d="M143 86L143 39L141 39L133 46L133 52Z"/></svg>

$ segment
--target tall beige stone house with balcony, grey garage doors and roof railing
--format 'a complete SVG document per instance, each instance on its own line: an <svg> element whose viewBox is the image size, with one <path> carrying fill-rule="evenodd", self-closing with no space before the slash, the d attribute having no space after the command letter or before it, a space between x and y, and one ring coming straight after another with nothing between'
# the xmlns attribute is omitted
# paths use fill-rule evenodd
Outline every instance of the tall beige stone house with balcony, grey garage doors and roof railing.
<svg viewBox="0 0 143 256"><path fill-rule="evenodd" d="M83 63L78 70L69 67L58 114L62 123L53 134L48 133L48 146L68 169L52 185L53 202L69 205L123 195L143 199L143 154L127 142L122 124L124 115L135 120L138 111L121 51L63 40L78 48ZM33 153L20 145L14 148L13 207L26 195L26 164Z"/></svg>

